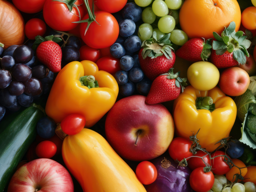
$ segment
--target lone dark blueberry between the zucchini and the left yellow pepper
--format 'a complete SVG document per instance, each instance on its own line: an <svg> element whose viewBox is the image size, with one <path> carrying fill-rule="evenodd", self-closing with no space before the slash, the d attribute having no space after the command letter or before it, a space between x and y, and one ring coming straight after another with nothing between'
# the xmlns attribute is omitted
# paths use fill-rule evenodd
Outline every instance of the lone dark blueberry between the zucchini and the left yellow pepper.
<svg viewBox="0 0 256 192"><path fill-rule="evenodd" d="M40 137L49 139L55 134L56 125L50 117L42 117L36 125L37 133Z"/></svg>

